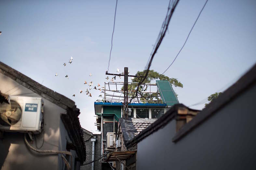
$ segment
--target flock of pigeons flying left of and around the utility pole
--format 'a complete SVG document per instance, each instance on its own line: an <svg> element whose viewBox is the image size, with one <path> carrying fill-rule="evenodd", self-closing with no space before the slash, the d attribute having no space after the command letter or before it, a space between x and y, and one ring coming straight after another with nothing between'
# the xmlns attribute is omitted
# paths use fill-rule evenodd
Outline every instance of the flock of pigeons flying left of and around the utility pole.
<svg viewBox="0 0 256 170"><path fill-rule="evenodd" d="M73 62L73 57L71 56L70 59L69 59L69 64L71 64L72 62ZM65 67L66 65L67 65L67 63L64 62L64 63L63 63L63 66ZM117 69L116 72L120 72L120 70ZM128 70L128 73L129 73L129 70ZM120 78L120 79L121 79L121 74L123 75L124 72L122 72L122 73L119 74L119 78ZM56 73L55 76L58 76L58 73ZM92 74L90 73L89 76L92 77ZM68 75L65 75L65 77L66 77L67 79L69 79ZM107 79L107 81L109 81L109 77L108 77L108 76L107 76L106 79ZM116 79L116 76L112 77L112 79L110 79L110 81L114 82L115 79ZM94 88L92 88L92 87L93 87L93 81L91 81L91 82L89 82L89 83L87 83L87 81L85 81L84 84L88 84L88 85L89 85L89 89L88 89L88 88L86 89L86 95L88 95L89 97L92 97L92 95L91 95L91 93L90 93L90 90L91 90L91 89L100 90L100 92L101 92L101 89L104 89L104 87L100 87L101 85L100 85L99 83L98 83L97 87L94 86ZM91 87L91 86L92 86L92 87ZM80 90L80 93L83 93L83 90ZM75 94L73 94L73 96L75 97ZM99 95L99 97L102 97L102 95Z"/></svg>

